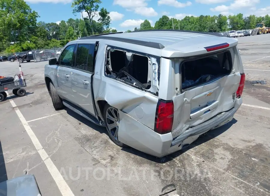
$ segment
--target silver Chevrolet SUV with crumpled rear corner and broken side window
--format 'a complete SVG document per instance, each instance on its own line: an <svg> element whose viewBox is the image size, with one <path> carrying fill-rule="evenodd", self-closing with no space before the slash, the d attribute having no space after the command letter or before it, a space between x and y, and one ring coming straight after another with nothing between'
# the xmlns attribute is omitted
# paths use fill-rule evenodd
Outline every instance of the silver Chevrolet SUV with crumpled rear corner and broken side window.
<svg viewBox="0 0 270 196"><path fill-rule="evenodd" d="M245 75L237 40L190 31L111 33L69 42L45 65L55 109L121 147L162 157L232 120Z"/></svg>

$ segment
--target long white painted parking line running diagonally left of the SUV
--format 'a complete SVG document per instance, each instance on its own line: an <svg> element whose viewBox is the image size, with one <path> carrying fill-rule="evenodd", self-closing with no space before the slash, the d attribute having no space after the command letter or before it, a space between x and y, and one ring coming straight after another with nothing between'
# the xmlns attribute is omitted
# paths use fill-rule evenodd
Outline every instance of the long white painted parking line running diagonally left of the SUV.
<svg viewBox="0 0 270 196"><path fill-rule="evenodd" d="M10 97L10 95L7 93L7 97ZM63 196L74 196L73 192L67 185L66 181L61 176L60 172L56 168L56 166L53 164L51 158L48 156L46 151L43 149L41 143L38 141L38 138L36 137L35 133L32 131L31 127L25 120L24 116L22 115L21 111L19 111L19 108L15 104L15 102L12 99L9 99L9 102L11 103L12 107L14 108L17 116L22 122L22 125L24 126L24 129L26 130L27 134L29 135L30 139L32 140L32 143L34 144L35 148L37 149L39 155L41 156L41 159L44 161L46 167L48 168L53 180L55 181L56 185L58 186L58 189L60 190L61 194Z"/></svg>

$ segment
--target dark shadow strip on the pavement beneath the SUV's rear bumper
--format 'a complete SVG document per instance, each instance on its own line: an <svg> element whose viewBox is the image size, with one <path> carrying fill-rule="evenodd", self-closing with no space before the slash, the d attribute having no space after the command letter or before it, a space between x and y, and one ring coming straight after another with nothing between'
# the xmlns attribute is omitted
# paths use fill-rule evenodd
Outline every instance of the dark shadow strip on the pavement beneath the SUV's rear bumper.
<svg viewBox="0 0 270 196"><path fill-rule="evenodd" d="M236 122L237 122L237 120L235 120L235 118L233 118L229 123L217 128L217 129L210 130L210 131L206 132L205 134L199 136L199 138L197 140L195 140L193 143L191 143L190 145L184 146L184 148L182 148L181 150L176 151L175 153L169 154L169 155L161 157L161 158L143 153L143 152L136 150L134 148L122 148L121 150L128 152L128 153L132 153L132 154L137 155L137 156L140 156L144 159L148 159L150 161L163 164L163 163L169 162L169 161L173 160L174 158L182 155L184 152L190 150L191 148L199 146L200 144L203 144L203 143L217 137L218 135L220 135L223 132L225 132L226 130L228 130Z"/></svg>

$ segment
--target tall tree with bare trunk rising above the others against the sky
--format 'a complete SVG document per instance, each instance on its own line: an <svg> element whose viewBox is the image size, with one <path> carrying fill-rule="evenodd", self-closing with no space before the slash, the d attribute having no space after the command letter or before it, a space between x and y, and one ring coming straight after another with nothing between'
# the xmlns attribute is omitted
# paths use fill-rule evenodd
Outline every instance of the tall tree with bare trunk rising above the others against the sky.
<svg viewBox="0 0 270 196"><path fill-rule="evenodd" d="M92 32L94 32L93 17L97 15L99 4L101 4L101 0L74 0L71 5L75 16L79 12L85 11L87 13Z"/></svg>

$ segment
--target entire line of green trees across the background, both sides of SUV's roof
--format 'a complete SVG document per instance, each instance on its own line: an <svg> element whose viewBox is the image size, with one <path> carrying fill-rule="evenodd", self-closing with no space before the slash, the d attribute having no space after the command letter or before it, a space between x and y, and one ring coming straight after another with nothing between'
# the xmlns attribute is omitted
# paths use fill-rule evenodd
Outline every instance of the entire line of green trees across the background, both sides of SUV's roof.
<svg viewBox="0 0 270 196"><path fill-rule="evenodd" d="M110 12L100 8L101 0L73 0L73 14L80 19L70 18L55 22L37 22L38 13L30 8L24 0L0 0L0 51L1 53L22 52L31 49L49 49L63 47L78 37L117 32L110 28ZM85 13L87 16L84 17ZM95 21L93 18L99 15ZM154 27L148 20L140 24L137 30L180 29L203 32L224 32L228 30L253 29L256 23L265 22L270 26L270 17L243 14L223 16L201 15L186 16L179 20L162 16ZM131 32L131 30L125 31Z"/></svg>

